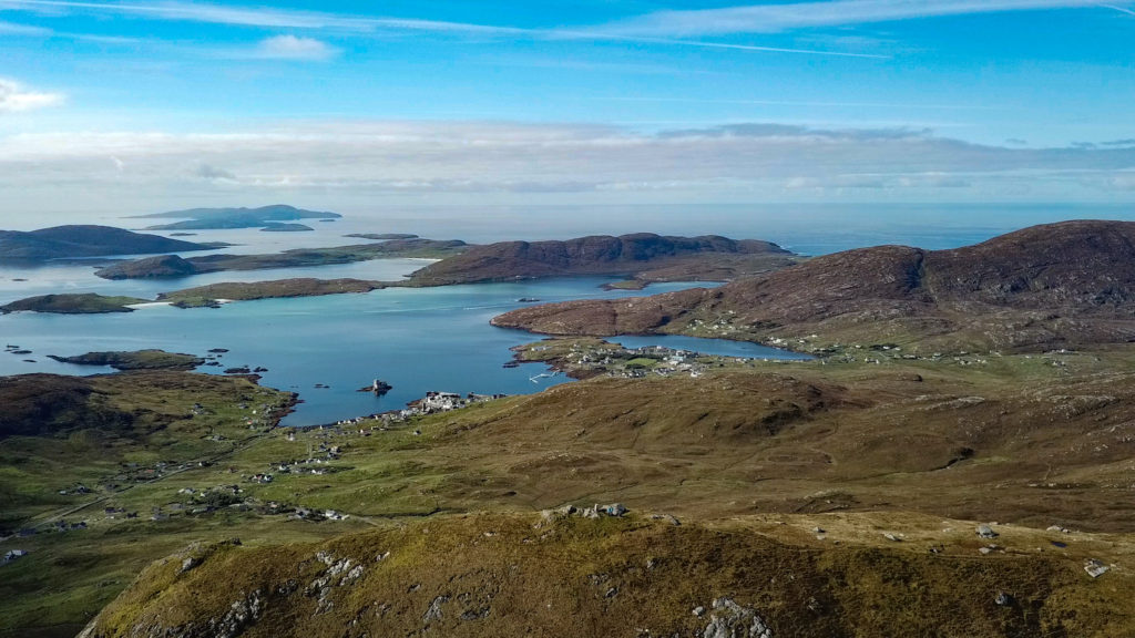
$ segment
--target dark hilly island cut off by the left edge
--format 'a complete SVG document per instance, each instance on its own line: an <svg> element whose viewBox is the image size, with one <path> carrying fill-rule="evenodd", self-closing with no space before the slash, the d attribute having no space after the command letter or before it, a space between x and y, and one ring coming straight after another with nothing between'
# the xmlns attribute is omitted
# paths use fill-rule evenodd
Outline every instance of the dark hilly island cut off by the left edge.
<svg viewBox="0 0 1135 638"><path fill-rule="evenodd" d="M226 245L185 242L110 226L54 226L31 232L0 230L0 261L205 251Z"/></svg>

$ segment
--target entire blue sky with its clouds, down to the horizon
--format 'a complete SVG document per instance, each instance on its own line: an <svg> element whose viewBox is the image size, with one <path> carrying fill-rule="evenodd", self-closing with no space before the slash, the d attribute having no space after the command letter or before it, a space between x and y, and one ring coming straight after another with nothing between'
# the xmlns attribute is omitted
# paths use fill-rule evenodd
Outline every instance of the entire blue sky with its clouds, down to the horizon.
<svg viewBox="0 0 1135 638"><path fill-rule="evenodd" d="M1132 42L1130 1L0 0L0 207L1132 202Z"/></svg>

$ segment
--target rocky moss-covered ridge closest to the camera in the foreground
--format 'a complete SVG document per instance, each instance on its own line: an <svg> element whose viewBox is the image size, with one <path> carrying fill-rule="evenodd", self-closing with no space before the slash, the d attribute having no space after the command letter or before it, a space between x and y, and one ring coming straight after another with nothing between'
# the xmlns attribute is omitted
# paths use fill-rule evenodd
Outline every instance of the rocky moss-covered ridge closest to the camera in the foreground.
<svg viewBox="0 0 1135 638"><path fill-rule="evenodd" d="M143 572L81 638L1036 638L1135 628L1129 587L1093 582L1067 557L932 554L914 537L784 543L775 528L755 518L675 527L497 514L318 545L199 546ZM1041 542L1029 536L1017 540Z"/></svg>

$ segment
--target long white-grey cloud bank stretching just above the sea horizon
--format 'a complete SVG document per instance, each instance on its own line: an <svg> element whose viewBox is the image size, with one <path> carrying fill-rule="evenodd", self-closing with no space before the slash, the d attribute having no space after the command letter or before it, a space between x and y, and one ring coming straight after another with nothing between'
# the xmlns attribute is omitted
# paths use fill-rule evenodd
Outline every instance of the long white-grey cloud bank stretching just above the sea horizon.
<svg viewBox="0 0 1135 638"><path fill-rule="evenodd" d="M49 202L67 209L90 198L153 208L158 200L176 205L210 194L302 195L327 205L375 198L665 203L856 193L1086 201L1135 196L1125 190L1133 174L1135 148L1022 149L925 131L775 124L642 134L586 125L306 121L224 134L0 137L0 210Z"/></svg>

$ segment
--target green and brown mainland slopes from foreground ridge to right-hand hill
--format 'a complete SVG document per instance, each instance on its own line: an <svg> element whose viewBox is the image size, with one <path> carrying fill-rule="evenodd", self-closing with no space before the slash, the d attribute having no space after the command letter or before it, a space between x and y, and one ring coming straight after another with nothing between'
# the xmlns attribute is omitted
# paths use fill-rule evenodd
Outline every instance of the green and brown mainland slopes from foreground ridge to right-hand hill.
<svg viewBox="0 0 1135 638"><path fill-rule="evenodd" d="M587 380L424 418L292 433L239 380L20 378L3 524L85 527L3 539L31 554L0 566L0 636L74 633L116 595L86 636L1135 635L1135 344L1111 338L1129 265L1104 280L1074 262L1126 244L1065 230L604 304L604 326L776 335L819 358L683 370L541 342L518 356ZM1071 261L1006 287L1020 271L999 251L1028 266L1014 242L1041 240ZM1035 329L998 324L1053 300ZM538 312L570 327L581 308L599 307ZM1096 345L1046 349L1053 327ZM932 350L1012 330L1003 352ZM540 514L605 503L630 515Z"/></svg>

